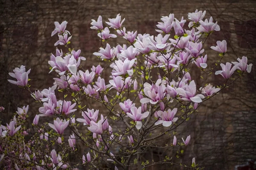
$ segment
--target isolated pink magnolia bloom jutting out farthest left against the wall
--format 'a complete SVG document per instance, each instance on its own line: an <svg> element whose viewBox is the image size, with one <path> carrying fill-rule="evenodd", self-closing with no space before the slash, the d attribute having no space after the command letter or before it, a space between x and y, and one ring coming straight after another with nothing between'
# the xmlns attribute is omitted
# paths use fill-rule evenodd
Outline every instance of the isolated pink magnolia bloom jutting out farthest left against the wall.
<svg viewBox="0 0 256 170"><path fill-rule="evenodd" d="M14 73L9 73L9 75L15 79L17 79L17 81L14 80L8 80L10 83L15 84L15 85L20 85L22 87L25 87L28 84L29 81L29 73L30 73L29 69L26 72L25 66L21 65L20 68L15 68L13 70Z"/></svg>

